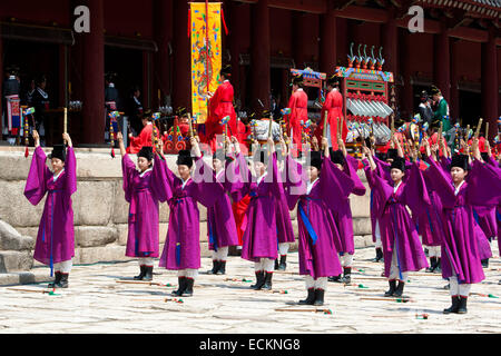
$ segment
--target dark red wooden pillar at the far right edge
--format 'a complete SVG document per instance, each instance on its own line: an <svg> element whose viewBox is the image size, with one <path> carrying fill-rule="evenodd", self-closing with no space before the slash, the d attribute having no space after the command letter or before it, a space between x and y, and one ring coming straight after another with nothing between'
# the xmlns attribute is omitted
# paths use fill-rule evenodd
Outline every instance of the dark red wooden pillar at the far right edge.
<svg viewBox="0 0 501 356"><path fill-rule="evenodd" d="M489 137L493 139L497 132L499 115L498 97L498 49L495 47L495 32L489 27L489 40L482 43L482 118L489 122ZM482 125L482 131L485 126Z"/></svg>

